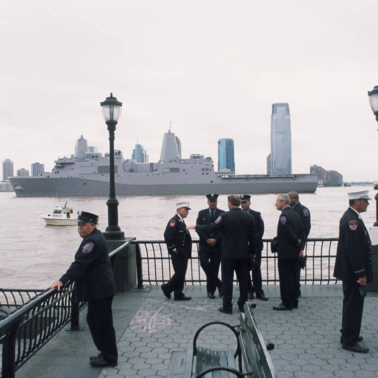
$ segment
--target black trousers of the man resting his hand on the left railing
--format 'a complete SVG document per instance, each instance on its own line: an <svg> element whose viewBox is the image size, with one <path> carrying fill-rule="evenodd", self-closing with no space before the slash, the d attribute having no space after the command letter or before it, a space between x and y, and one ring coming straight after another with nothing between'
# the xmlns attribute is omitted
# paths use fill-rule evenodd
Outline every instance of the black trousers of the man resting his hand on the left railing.
<svg viewBox="0 0 378 378"><path fill-rule="evenodd" d="M113 297L88 302L87 323L96 348L109 362L117 362L117 344L113 327L111 303Z"/></svg>

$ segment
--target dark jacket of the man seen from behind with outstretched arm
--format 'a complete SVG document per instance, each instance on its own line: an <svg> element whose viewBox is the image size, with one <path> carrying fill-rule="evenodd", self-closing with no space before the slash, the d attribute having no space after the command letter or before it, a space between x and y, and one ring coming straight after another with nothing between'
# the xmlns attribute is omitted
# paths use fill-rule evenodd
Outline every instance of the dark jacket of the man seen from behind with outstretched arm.
<svg viewBox="0 0 378 378"><path fill-rule="evenodd" d="M243 260L256 254L256 229L251 214L240 207L221 213L209 225L195 226L196 232L213 232L221 230L221 259Z"/></svg>

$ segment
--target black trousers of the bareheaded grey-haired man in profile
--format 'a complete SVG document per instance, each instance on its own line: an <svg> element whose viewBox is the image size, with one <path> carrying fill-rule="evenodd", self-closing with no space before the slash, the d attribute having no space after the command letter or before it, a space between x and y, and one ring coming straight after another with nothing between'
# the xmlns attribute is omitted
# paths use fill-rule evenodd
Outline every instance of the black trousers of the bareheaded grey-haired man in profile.
<svg viewBox="0 0 378 378"><path fill-rule="evenodd" d="M291 308L298 306L298 297L295 291L297 260L298 259L278 259L281 301L284 306Z"/></svg>

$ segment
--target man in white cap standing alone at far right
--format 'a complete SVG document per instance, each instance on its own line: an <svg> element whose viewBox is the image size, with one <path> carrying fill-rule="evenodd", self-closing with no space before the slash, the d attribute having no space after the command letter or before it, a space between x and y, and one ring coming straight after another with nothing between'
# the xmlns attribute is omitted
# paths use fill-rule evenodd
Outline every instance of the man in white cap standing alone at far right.
<svg viewBox="0 0 378 378"><path fill-rule="evenodd" d="M334 277L343 281L343 318L340 343L343 349L368 353L359 344L365 285L373 279L372 245L360 213L367 210L369 191L348 193L349 208L340 219Z"/></svg>

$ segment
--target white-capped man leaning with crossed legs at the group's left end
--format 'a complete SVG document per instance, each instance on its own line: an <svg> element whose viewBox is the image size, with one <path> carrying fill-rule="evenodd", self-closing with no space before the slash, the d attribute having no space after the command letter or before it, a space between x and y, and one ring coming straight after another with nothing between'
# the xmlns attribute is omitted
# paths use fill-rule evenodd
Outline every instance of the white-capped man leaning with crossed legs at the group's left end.
<svg viewBox="0 0 378 378"><path fill-rule="evenodd" d="M171 298L173 291L175 300L189 300L191 297L183 293L188 259L191 257L191 236L184 222L190 210L189 202L177 203L176 209L176 215L170 219L164 232L164 240L175 273L171 280L161 285L161 288L167 298Z"/></svg>

